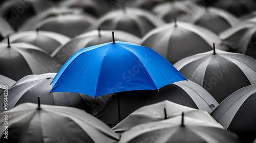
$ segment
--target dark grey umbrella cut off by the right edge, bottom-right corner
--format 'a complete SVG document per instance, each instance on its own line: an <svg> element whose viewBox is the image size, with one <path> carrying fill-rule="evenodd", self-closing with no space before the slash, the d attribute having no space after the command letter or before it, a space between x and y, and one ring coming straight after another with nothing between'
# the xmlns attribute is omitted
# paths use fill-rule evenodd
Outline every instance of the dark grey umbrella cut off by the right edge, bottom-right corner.
<svg viewBox="0 0 256 143"><path fill-rule="evenodd" d="M212 113L225 129L238 134L243 142L256 138L256 84L233 92Z"/></svg>

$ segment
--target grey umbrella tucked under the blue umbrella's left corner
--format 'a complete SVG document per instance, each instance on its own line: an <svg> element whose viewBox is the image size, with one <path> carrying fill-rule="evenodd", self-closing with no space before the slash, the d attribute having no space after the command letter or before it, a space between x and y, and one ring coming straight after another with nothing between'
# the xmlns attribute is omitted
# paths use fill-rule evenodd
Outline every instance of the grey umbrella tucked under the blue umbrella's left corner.
<svg viewBox="0 0 256 143"><path fill-rule="evenodd" d="M92 114L91 107L86 102L87 95L68 92L49 94L52 88L50 83L55 75L56 73L28 75L17 81L8 90L8 109L22 103L37 103L37 97L39 97L42 104L75 107ZM4 102L4 98L2 94L0 101ZM5 111L4 107L0 106L0 112L3 111Z"/></svg>

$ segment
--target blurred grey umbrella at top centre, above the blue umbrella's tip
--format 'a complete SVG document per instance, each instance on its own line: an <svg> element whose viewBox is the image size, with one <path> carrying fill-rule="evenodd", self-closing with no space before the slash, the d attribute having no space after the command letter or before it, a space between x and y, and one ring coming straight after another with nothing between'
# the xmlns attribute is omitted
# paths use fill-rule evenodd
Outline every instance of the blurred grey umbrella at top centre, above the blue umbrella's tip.
<svg viewBox="0 0 256 143"><path fill-rule="evenodd" d="M97 21L94 29L122 30L142 37L163 23L160 18L150 12L136 8L123 8L103 15Z"/></svg>

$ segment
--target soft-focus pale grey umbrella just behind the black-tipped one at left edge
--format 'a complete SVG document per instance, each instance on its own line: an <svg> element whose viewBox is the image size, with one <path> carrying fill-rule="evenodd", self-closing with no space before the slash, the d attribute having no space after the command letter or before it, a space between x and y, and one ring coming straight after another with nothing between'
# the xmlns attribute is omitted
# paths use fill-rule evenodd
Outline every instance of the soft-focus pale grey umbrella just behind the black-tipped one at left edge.
<svg viewBox="0 0 256 143"><path fill-rule="evenodd" d="M6 38L2 42L7 43ZM48 54L52 54L57 47L62 46L70 41L70 38L50 31L24 31L18 32L10 36L11 43L26 42L33 44L40 49L45 50Z"/></svg>

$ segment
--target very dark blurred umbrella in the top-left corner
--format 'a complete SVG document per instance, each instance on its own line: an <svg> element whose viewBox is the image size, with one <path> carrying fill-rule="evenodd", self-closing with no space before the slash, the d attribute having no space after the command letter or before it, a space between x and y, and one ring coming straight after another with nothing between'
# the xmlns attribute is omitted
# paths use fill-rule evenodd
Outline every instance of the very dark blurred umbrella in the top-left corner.
<svg viewBox="0 0 256 143"><path fill-rule="evenodd" d="M52 6L54 6L54 4L48 0L9 0L0 6L0 15L10 23L14 30L17 30L28 18Z"/></svg>

